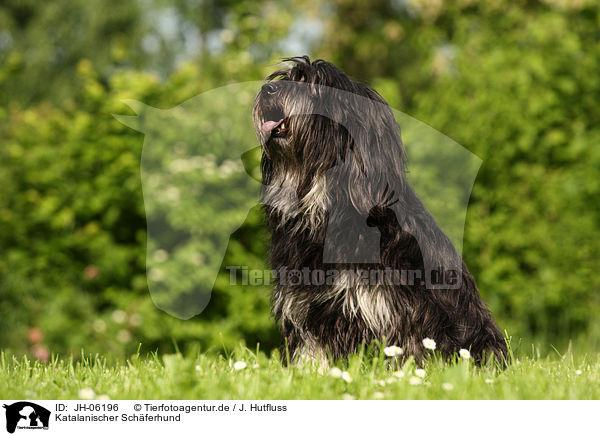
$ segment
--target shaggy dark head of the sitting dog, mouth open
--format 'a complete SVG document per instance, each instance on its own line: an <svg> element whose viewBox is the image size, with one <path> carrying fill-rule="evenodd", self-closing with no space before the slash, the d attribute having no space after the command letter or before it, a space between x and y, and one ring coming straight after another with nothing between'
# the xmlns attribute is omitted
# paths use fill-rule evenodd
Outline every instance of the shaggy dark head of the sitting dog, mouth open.
<svg viewBox="0 0 600 436"><path fill-rule="evenodd" d="M338 189L368 211L386 185L403 180L404 149L390 107L329 62L307 56L284 61L289 66L266 78L254 103L263 183L285 178L302 198L343 163L351 186Z"/></svg>

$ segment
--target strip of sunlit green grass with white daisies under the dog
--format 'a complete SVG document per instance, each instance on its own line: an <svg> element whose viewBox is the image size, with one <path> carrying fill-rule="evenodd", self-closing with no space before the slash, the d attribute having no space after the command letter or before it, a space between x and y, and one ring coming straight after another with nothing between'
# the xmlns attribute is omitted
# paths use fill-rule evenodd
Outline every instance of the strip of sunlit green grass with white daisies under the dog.
<svg viewBox="0 0 600 436"><path fill-rule="evenodd" d="M235 361L246 368L233 369ZM111 399L600 399L598 355L542 358L532 352L503 371L434 356L424 378L414 376L412 359L401 368L403 377L382 355L357 355L338 366L350 381L331 375L331 367L286 368L276 355L242 347L228 357L150 355L114 363L84 356L40 363L0 354L0 380L8 381L0 383L0 397L78 399L91 389Z"/></svg>

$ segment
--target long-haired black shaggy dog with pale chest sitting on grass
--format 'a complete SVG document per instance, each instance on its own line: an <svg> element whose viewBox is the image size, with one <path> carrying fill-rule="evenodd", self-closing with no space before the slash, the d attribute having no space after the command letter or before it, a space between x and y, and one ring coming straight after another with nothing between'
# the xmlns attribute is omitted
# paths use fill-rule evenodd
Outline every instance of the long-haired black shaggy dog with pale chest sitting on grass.
<svg viewBox="0 0 600 436"><path fill-rule="evenodd" d="M379 340L421 359L430 338L446 356L503 360L473 277L406 181L390 107L328 62L284 61L253 110L284 355L337 359Z"/></svg>

